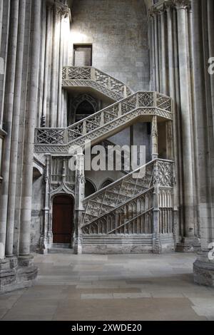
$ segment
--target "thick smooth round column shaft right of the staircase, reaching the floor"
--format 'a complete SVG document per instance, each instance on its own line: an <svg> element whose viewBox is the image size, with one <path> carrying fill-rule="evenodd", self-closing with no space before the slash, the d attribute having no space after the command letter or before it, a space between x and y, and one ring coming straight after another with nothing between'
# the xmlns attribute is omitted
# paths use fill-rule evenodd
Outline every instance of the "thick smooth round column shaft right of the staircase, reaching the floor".
<svg viewBox="0 0 214 335"><path fill-rule="evenodd" d="M181 137L183 149L183 209L185 236L182 239L183 247L179 244L179 251L192 251L193 245L198 244L195 237L194 202L193 202L193 161L191 145L191 113L189 99L189 73L188 73L188 26L186 21L188 0L176 0L178 16L178 58L180 73L180 118ZM182 250L183 249L183 250Z"/></svg>

